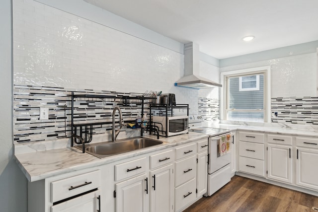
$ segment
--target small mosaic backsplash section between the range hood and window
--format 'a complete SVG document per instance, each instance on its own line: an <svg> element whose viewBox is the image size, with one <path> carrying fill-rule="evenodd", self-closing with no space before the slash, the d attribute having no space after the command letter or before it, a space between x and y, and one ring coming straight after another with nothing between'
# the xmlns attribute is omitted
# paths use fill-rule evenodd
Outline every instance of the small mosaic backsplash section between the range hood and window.
<svg viewBox="0 0 318 212"><path fill-rule="evenodd" d="M199 97L198 110L199 110L199 114L202 115L205 121L219 120L220 119L220 100Z"/></svg>

